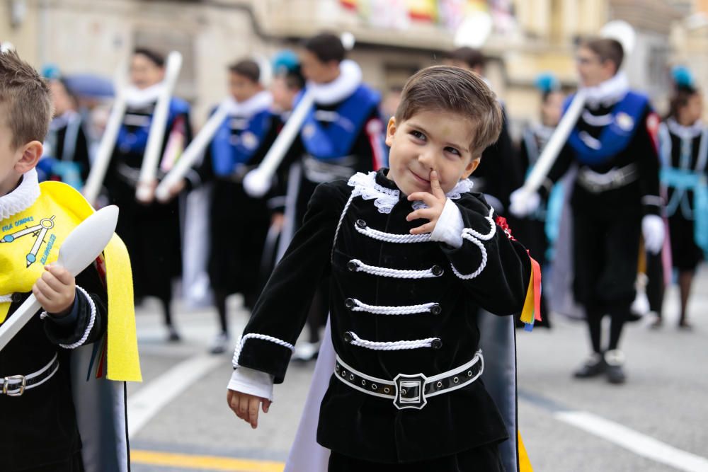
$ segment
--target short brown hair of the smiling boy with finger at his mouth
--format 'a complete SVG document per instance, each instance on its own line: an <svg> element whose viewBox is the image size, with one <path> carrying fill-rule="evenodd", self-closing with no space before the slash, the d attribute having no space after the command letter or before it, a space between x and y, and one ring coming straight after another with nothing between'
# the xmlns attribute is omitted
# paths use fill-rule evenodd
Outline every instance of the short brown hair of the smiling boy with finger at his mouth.
<svg viewBox="0 0 708 472"><path fill-rule="evenodd" d="M470 149L474 158L494 144L501 133L503 117L496 95L479 75L467 69L433 66L411 76L401 92L396 122L424 111L456 113L472 121Z"/></svg>

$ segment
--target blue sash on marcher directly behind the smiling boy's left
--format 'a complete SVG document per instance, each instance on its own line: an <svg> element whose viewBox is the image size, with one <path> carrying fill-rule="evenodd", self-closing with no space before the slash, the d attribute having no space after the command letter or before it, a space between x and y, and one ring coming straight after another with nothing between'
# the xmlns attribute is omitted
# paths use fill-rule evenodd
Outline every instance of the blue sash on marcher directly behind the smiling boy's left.
<svg viewBox="0 0 708 472"><path fill-rule="evenodd" d="M300 130L305 150L315 159L323 161L348 156L365 120L371 116L380 100L378 92L360 85L336 108L339 115L337 120L327 125L316 120L316 110L313 108Z"/></svg>

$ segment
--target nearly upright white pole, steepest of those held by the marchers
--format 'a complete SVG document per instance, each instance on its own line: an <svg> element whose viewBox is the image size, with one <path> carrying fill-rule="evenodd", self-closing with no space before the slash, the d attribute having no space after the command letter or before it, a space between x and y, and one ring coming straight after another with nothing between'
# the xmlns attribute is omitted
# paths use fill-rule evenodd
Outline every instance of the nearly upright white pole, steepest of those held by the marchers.
<svg viewBox="0 0 708 472"><path fill-rule="evenodd" d="M182 54L176 51L170 52L167 57L165 78L162 83L162 90L155 105L155 112L152 115L152 123L147 137L147 146L142 159L142 167L137 182L135 197L141 202L150 202L154 189L152 185L156 179L157 166L160 159L160 151L165 136L165 128L169 113L170 99L175 88L179 71L182 67Z"/></svg>

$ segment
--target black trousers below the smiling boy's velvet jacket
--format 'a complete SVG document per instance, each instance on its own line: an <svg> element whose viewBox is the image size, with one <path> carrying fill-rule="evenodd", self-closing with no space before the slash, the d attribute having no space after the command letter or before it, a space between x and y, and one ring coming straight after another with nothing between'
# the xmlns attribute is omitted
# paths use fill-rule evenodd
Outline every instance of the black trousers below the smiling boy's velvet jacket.
<svg viewBox="0 0 708 472"><path fill-rule="evenodd" d="M329 472L504 472L496 444L488 444L453 456L403 464L381 464L337 454L329 456Z"/></svg>

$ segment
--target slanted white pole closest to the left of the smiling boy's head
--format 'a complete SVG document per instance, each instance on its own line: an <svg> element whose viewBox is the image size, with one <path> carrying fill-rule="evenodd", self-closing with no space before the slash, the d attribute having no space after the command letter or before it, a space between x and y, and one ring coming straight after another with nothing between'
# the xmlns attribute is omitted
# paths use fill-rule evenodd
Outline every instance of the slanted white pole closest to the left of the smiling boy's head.
<svg viewBox="0 0 708 472"><path fill-rule="evenodd" d="M251 195L251 197L263 197L266 192L270 189L270 183L273 179L275 171L278 170L278 166L285 157L285 153L290 149L290 144L297 136L297 133L302 127L302 123L307 117L312 105L314 103L314 96L309 91L304 93L302 99L293 110L292 115L285 123L280 134L273 142L273 146L270 146L268 153L263 157L261 165L258 168L253 169L253 171L246 174L244 178L244 190L246 193Z"/></svg>

